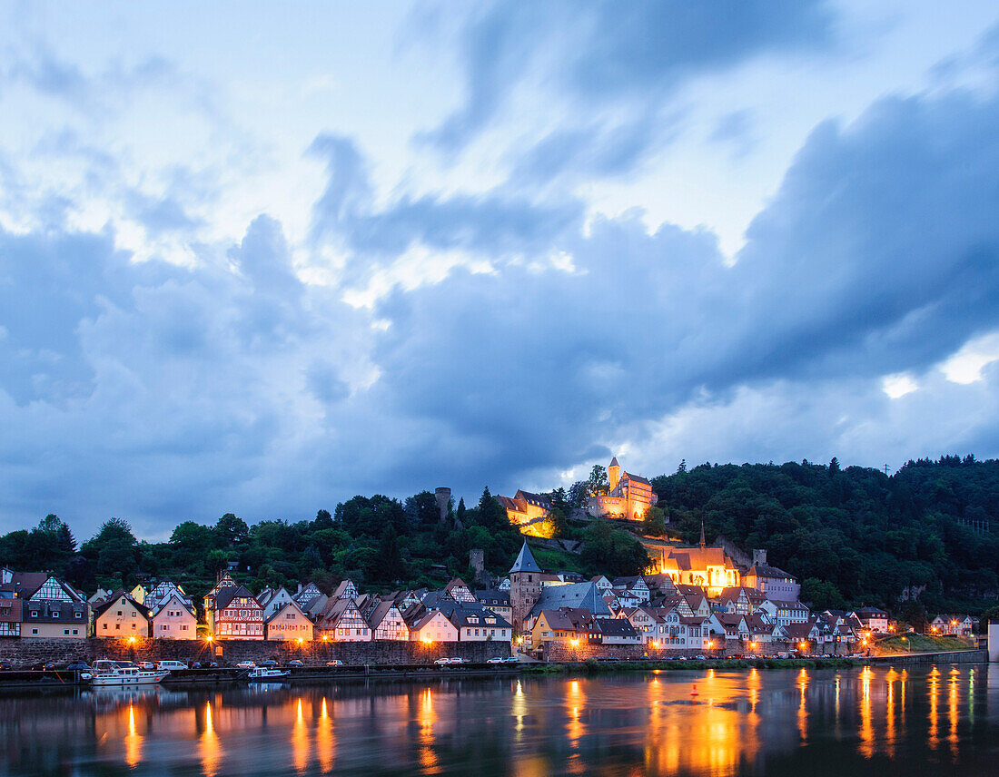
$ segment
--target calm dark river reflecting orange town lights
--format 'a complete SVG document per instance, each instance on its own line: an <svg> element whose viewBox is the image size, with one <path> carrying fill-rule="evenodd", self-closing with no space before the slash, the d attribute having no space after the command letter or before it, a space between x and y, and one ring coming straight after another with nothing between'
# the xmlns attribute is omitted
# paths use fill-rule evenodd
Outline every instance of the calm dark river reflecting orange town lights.
<svg viewBox="0 0 999 777"><path fill-rule="evenodd" d="M5 696L0 744L3 775L999 775L999 665Z"/></svg>

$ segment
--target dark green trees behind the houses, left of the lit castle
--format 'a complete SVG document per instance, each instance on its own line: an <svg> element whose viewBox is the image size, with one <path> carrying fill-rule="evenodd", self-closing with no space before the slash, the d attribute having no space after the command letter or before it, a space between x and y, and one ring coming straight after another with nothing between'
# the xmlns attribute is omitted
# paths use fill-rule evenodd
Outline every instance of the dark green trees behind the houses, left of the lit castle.
<svg viewBox="0 0 999 777"><path fill-rule="evenodd" d="M69 526L48 515L34 529L0 537L0 564L53 571L88 593L170 577L197 597L231 562L254 590L305 580L332 590L344 577L382 588L439 585L470 573L471 548L485 550L487 569L505 572L520 541L487 488L478 505L449 505L444 518L429 491L405 500L355 496L313 520L251 526L232 513L215 525L187 520L166 542L140 541L127 521L111 518L79 548Z"/></svg>

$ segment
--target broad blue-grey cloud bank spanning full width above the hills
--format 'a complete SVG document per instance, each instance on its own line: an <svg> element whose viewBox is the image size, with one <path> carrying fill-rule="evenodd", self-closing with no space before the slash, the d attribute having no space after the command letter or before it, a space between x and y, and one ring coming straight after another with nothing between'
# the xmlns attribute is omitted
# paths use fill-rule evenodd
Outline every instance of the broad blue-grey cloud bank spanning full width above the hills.
<svg viewBox="0 0 999 777"><path fill-rule="evenodd" d="M347 289L415 246L507 260L396 287L371 312L301 283L269 216L228 266L193 269L135 263L110 228L0 231L4 528L55 511L82 535L112 514L155 534L230 509L301 517L355 492L503 490L711 403L733 408L735 438L797 450L815 396L843 388L883 413L881 375L918 375L996 327L996 126L999 99L956 92L820 126L734 266L711 233L648 234L638 214L583 229L571 199L500 188L380 205L363 155L324 136L315 239L346 247ZM857 406L833 398L837 416ZM992 426L969 430L956 404L953 417L963 430L941 422L941 438L999 453Z"/></svg>

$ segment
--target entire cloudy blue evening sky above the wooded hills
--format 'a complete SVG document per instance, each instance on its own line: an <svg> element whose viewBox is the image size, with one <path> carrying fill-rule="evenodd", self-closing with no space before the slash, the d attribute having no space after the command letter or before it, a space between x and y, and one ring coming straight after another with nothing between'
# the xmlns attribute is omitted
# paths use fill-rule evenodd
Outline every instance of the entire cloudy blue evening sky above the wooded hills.
<svg viewBox="0 0 999 777"><path fill-rule="evenodd" d="M999 10L6 3L0 529L999 454Z"/></svg>

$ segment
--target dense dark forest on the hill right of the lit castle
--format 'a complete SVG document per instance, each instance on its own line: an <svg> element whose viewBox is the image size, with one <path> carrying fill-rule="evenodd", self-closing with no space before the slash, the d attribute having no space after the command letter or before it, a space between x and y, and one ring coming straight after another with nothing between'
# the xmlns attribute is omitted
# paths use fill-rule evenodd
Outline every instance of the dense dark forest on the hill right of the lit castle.
<svg viewBox="0 0 999 777"><path fill-rule="evenodd" d="M944 456L878 469L681 463L652 480L670 529L723 535L798 576L819 606L980 612L999 592L999 461ZM988 524L990 531L985 531ZM911 599L915 596L915 601Z"/></svg>

